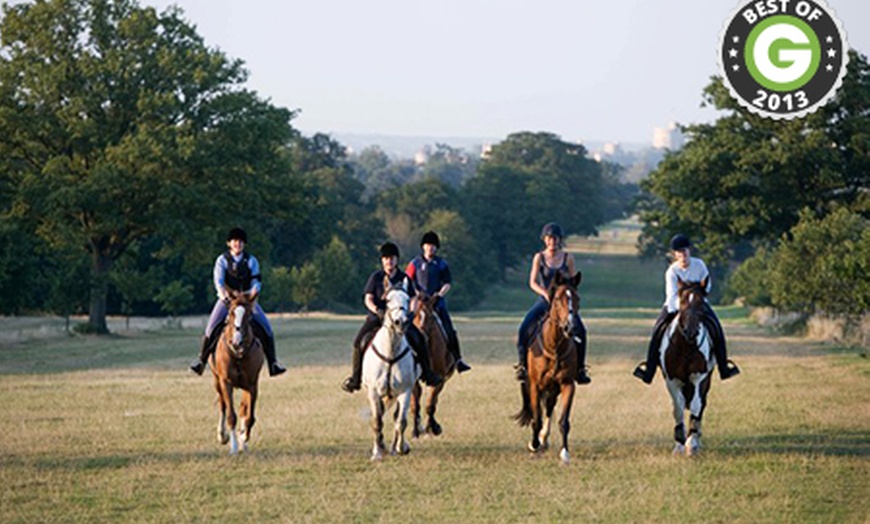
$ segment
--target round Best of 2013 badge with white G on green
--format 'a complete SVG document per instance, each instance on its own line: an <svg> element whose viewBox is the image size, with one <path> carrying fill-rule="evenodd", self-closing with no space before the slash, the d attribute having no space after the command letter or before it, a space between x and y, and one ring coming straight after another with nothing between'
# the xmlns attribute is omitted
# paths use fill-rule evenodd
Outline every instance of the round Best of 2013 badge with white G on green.
<svg viewBox="0 0 870 524"><path fill-rule="evenodd" d="M726 21L719 65L740 105L791 120L834 97L848 49L842 24L823 0L752 0Z"/></svg>

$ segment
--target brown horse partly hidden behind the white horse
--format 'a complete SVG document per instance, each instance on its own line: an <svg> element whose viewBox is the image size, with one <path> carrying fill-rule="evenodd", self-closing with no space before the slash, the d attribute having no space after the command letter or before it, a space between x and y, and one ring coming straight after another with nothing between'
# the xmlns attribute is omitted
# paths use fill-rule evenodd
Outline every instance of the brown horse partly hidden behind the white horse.
<svg viewBox="0 0 870 524"><path fill-rule="evenodd" d="M414 430L411 435L418 438L423 433L428 433L433 436L441 434L441 424L435 419L435 411L438 409L438 397L441 391L444 390L444 384L447 383L453 372L456 369L456 359L453 354L447 349L447 333L444 331L444 325L441 319L438 318L438 313L435 312L435 304L438 303L439 297L432 295L417 302L417 314L414 316L414 325L423 334L426 339L427 347L429 348L429 361L432 365L432 370L441 375L444 381L435 387L427 386L429 392L426 402L426 427L421 426L420 416L420 401L423 396L423 388L419 382L414 384L413 396L411 397L411 413L414 418Z"/></svg>

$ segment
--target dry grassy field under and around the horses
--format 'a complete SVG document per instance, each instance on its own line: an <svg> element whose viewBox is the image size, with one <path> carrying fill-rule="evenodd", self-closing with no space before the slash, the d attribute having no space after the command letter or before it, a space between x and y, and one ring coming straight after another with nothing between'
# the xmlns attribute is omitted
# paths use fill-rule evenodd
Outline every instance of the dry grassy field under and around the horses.
<svg viewBox="0 0 870 524"><path fill-rule="evenodd" d="M186 373L198 330L70 338L4 319L22 335L0 339L0 522L867 522L867 359L719 308L743 374L715 380L702 455L672 457L661 380L630 374L661 300L635 283L660 285L661 267L606 251L577 251L593 383L567 467L557 450L530 456L511 420L524 275L457 315L474 370L448 383L444 435L376 464L365 400L339 389L360 317L274 318L291 369L263 378L235 458L210 379Z"/></svg>

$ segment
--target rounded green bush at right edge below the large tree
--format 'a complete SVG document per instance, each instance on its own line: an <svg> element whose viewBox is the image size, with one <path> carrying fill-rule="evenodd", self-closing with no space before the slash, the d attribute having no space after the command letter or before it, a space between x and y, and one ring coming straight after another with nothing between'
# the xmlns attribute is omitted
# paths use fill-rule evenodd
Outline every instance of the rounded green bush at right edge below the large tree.
<svg viewBox="0 0 870 524"><path fill-rule="evenodd" d="M821 219L804 210L770 263L774 305L853 320L870 311L868 226L846 209Z"/></svg>

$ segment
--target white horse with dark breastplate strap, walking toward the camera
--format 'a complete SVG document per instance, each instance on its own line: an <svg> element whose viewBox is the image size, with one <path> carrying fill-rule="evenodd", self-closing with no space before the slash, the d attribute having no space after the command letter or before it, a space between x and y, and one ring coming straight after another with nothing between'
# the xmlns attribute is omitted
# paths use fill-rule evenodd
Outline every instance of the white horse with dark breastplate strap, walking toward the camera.
<svg viewBox="0 0 870 524"><path fill-rule="evenodd" d="M419 372L411 346L405 339L405 329L411 320L408 285L408 279L405 279L401 286L386 287L384 322L363 356L362 382L372 410L373 461L381 460L384 456L383 416L394 402L397 405L393 414L390 454L405 455L411 451L411 446L405 440L405 428L408 425L411 390Z"/></svg>

